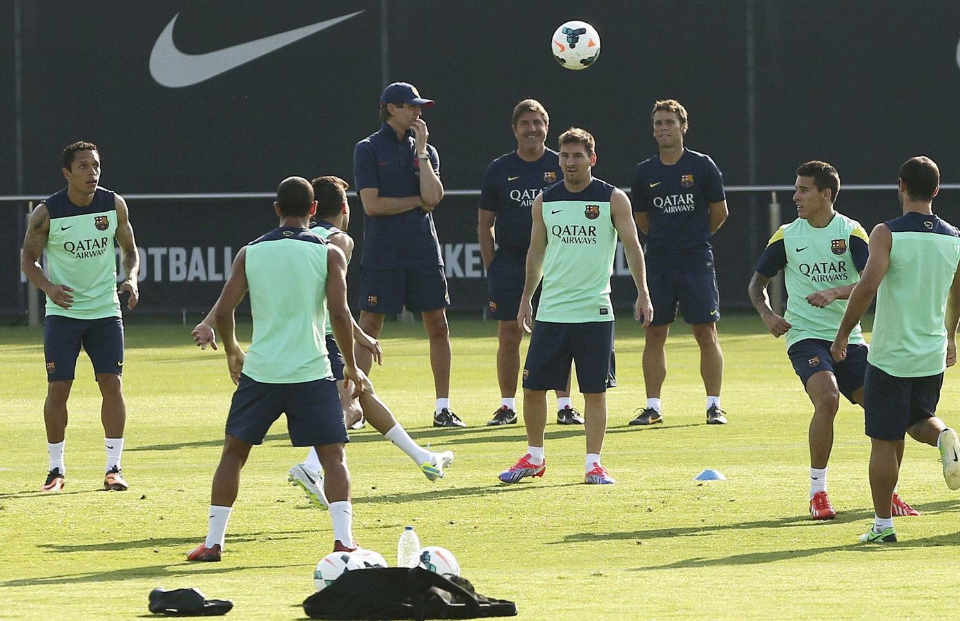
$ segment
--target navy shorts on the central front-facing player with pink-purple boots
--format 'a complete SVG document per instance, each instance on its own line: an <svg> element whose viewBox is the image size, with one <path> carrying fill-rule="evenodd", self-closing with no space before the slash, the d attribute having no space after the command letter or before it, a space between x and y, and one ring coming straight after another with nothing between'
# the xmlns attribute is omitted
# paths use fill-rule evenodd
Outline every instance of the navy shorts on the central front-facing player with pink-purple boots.
<svg viewBox="0 0 960 621"><path fill-rule="evenodd" d="M523 365L523 388L565 391L571 361L577 365L581 393L616 387L613 322L536 322Z"/></svg>

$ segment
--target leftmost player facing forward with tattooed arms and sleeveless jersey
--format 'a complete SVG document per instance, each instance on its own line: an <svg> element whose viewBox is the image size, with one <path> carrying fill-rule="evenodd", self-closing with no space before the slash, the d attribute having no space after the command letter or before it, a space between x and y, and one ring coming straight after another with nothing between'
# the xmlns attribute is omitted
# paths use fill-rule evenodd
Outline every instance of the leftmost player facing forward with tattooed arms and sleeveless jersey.
<svg viewBox="0 0 960 621"><path fill-rule="evenodd" d="M75 142L63 150L67 186L36 206L23 240L20 269L47 298L43 350L47 398L43 420L47 431L50 469L41 491L63 489L66 467L63 446L66 402L73 386L81 346L93 363L103 397L107 466L105 490L127 490L120 468L127 405L120 375L124 363L123 317L116 286L114 240L120 246L124 281L120 293L130 295L133 309L139 298L140 255L133 239L127 202L99 187L100 151L91 142ZM40 267L46 251L50 277Z"/></svg>

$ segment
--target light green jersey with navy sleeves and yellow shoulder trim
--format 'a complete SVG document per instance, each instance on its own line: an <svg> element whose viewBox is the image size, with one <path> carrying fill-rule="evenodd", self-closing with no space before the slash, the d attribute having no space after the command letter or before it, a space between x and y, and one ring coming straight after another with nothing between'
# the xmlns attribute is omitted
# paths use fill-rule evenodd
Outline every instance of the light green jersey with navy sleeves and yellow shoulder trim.
<svg viewBox="0 0 960 621"><path fill-rule="evenodd" d="M810 294L844 287L860 280L860 273L853 257L853 245L859 244L860 270L866 263L867 231L855 220L837 213L823 228L811 227L803 218L783 225L767 244L767 251L760 257L757 272L776 275L782 257L784 284L787 302L783 319L790 322L786 333L789 348L804 339L833 341L837 328L847 310L846 299L836 299L824 308L810 305ZM782 254L778 245L782 245ZM772 271L771 271L772 270ZM864 343L860 324L853 326L850 343Z"/></svg>

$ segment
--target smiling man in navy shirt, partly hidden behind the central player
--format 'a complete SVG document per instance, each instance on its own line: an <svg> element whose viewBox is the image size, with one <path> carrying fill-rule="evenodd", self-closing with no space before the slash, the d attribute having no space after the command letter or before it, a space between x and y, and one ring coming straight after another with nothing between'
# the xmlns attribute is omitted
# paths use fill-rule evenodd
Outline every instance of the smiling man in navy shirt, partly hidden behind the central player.
<svg viewBox="0 0 960 621"><path fill-rule="evenodd" d="M497 322L496 379L500 407L488 425L516 423L516 380L520 371L523 330L516 323L530 247L530 208L540 190L563 176L557 152L546 148L550 115L535 99L514 107L511 127L516 151L494 159L480 191L477 237L490 290L488 308ZM495 248L494 248L495 244ZM536 304L539 295L534 296ZM583 424L570 403L570 388L557 392L557 423Z"/></svg>

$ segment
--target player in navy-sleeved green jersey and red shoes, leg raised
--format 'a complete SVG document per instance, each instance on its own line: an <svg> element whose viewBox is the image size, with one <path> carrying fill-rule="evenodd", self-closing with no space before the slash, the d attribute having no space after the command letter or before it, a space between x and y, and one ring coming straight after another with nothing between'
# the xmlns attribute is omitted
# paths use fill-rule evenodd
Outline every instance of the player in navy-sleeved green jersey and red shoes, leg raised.
<svg viewBox="0 0 960 621"><path fill-rule="evenodd" d="M829 347L847 299L867 264L867 231L833 209L840 176L824 161L808 161L797 169L797 219L780 227L756 263L750 299L760 319L776 338L786 339L787 356L813 403L810 419L809 509L813 519L832 519L836 510L827 494L827 463L833 447L833 418L840 395L863 406L867 346L860 325L853 326L842 362L834 362ZM766 287L783 270L787 308L780 317L770 307ZM919 515L895 490L893 511Z"/></svg>

